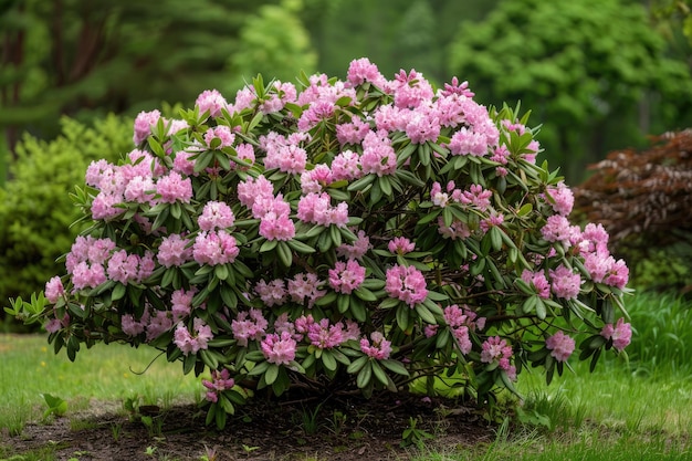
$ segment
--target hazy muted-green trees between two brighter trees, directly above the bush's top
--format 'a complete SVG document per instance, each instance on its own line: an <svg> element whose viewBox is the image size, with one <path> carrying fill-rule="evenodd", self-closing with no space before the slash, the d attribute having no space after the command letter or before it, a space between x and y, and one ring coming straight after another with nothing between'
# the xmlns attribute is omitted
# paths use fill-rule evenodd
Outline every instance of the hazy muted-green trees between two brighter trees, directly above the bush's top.
<svg viewBox="0 0 692 461"><path fill-rule="evenodd" d="M318 69L340 75L367 56L386 76L400 69L445 82L449 44L459 22L479 21L499 0L305 0L301 14L319 57Z"/></svg>

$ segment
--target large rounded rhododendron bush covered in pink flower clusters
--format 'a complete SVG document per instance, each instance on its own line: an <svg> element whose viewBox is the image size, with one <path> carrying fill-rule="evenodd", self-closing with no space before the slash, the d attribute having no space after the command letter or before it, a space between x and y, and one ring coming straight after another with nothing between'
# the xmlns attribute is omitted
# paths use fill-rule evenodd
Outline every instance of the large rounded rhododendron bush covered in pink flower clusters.
<svg viewBox="0 0 692 461"><path fill-rule="evenodd" d="M220 426L258 392L428 377L482 400L527 366L562 374L576 347L595 365L629 343L628 269L602 227L570 223L526 118L366 59L345 81L258 76L178 119L141 113L134 150L75 193L93 226L66 274L9 311L71 359L165 350L205 373Z"/></svg>

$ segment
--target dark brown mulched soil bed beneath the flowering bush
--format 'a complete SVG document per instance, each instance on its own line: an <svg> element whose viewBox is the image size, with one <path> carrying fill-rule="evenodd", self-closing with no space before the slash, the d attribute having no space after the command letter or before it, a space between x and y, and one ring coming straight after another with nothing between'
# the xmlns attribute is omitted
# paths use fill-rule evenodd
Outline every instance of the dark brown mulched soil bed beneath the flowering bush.
<svg viewBox="0 0 692 461"><path fill-rule="evenodd" d="M144 425L141 416L153 423ZM426 450L466 450L495 433L474 408L415 395L322 404L253 400L222 431L205 427L205 416L193 405L140 407L134 415L122 404L91 401L88 410L30 423L19 436L0 433L0 440L18 454L53 446L59 460L377 461L420 455L415 444L401 447L410 418L433 436Z"/></svg>

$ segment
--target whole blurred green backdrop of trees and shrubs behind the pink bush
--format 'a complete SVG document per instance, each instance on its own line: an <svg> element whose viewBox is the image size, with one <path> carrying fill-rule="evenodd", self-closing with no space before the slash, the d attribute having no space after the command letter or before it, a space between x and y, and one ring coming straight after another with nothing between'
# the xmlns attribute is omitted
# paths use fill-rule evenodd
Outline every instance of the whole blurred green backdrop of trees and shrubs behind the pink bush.
<svg viewBox="0 0 692 461"><path fill-rule="evenodd" d="M367 56L521 101L576 186L607 153L692 126L691 36L680 0L0 0L0 304L56 271L67 193L130 150L139 111L232 101L258 73L344 78Z"/></svg>

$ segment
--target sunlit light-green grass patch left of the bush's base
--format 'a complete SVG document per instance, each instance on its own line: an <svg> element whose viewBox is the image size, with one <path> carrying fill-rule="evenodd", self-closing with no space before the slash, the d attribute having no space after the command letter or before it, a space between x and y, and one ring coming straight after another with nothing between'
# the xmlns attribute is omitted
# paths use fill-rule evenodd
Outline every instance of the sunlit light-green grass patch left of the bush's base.
<svg viewBox="0 0 692 461"><path fill-rule="evenodd" d="M24 423L40 419L43 394L66 400L69 411L87 409L91 399L139 396L164 408L192 401L199 380L158 354L149 347L96 345L71 363L64 354L55 355L44 336L0 335L0 428L20 432Z"/></svg>

